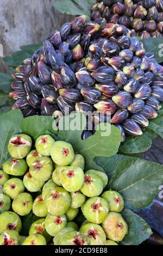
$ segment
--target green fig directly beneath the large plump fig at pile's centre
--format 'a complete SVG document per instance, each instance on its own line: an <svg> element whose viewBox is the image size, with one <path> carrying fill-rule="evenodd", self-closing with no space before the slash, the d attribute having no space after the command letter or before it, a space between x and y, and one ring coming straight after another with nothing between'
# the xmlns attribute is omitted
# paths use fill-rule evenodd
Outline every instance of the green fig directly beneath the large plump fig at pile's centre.
<svg viewBox="0 0 163 256"><path fill-rule="evenodd" d="M67 219L65 215L55 216L48 214L45 219L45 228L49 235L55 236L66 227Z"/></svg>

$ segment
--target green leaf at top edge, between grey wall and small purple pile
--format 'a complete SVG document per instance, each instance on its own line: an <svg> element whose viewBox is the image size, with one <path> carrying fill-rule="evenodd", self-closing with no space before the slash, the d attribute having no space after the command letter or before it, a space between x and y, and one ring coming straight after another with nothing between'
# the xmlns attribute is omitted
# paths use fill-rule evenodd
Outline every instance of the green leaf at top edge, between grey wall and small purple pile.
<svg viewBox="0 0 163 256"><path fill-rule="evenodd" d="M96 0L55 0L53 6L60 13L90 16L90 9Z"/></svg>

